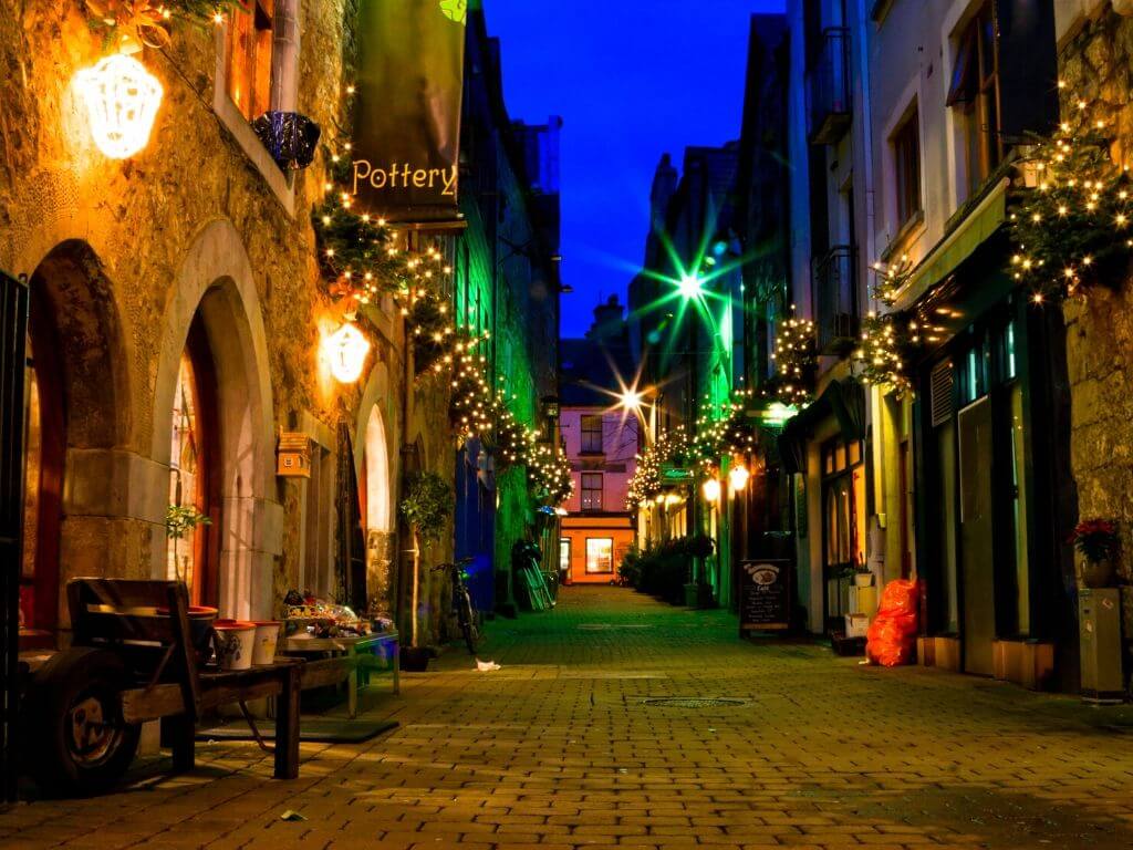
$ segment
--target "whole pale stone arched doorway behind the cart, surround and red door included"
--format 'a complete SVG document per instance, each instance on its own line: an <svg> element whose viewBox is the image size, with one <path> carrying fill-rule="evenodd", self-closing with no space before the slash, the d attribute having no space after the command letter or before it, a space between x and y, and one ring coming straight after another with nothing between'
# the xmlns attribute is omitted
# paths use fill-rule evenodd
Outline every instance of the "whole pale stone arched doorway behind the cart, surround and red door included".
<svg viewBox="0 0 1133 850"><path fill-rule="evenodd" d="M163 498L170 504L177 495L173 467L181 462L174 456L182 449L174 414L184 413L186 400L178 396L186 385L201 436L194 447L198 474L201 458L207 462L206 484L194 477L191 493L181 470L181 499L199 499L212 520L193 534L190 566L202 579L194 594L224 617L267 619L281 596L275 569L283 529L267 340L247 252L224 220L202 228L165 304L150 458L168 470ZM155 554L151 575L164 578L169 551Z"/></svg>

